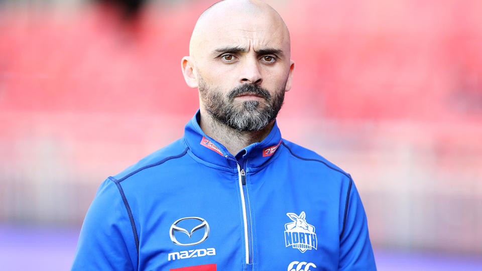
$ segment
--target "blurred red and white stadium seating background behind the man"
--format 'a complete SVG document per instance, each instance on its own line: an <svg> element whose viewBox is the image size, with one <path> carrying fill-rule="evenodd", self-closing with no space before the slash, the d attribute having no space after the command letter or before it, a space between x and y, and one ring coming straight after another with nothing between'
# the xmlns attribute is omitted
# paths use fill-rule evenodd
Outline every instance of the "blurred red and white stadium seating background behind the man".
<svg viewBox="0 0 482 271"><path fill-rule="evenodd" d="M100 182L181 137L214 2L0 0L6 270L68 269ZM482 2L268 3L296 62L283 137L353 176L379 270L480 270Z"/></svg>

